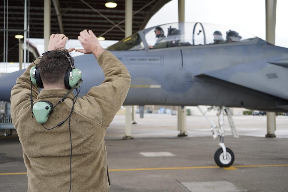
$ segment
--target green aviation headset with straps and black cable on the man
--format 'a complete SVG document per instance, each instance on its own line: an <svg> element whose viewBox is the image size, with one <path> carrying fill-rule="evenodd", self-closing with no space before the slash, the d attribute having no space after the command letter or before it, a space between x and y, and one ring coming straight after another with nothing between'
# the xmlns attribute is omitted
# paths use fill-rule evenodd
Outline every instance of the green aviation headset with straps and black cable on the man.
<svg viewBox="0 0 288 192"><path fill-rule="evenodd" d="M53 50L55 51L55 50ZM77 69L74 66L73 60L70 58L69 53L66 53L64 51L61 50L57 50L59 52L61 52L63 55L65 55L70 63L70 67L67 69L65 76L64 76L64 84L65 87L67 89L70 89L63 98L61 98L58 103L53 107L53 104L49 101L39 101L37 103L34 104L33 106L33 99L32 99L32 84L37 85L38 87L43 88L43 82L40 76L40 72L39 72L39 67L38 64L36 64L34 61L36 60L36 58L34 59L33 63L36 64L36 66L33 66L30 70L30 80L31 80L31 92L30 92L30 101L31 101L31 110L32 110L32 117L35 116L35 119L38 123L40 123L42 125L42 127L46 130L51 130L54 129L60 125L62 125L65 121L68 120L68 127L69 127L69 133L70 133L70 189L69 192L71 191L71 186L72 186L72 136L71 136L71 128L70 128L70 119L71 119L71 115L74 109L74 105L76 103L76 100L78 98L78 94L81 90L80 84L83 82L82 80L82 72L81 70ZM48 51L50 52L50 51ZM46 55L48 52L43 53L42 55ZM41 59L41 58L40 58ZM41 61L41 60L40 60ZM78 87L79 87L79 91L78 91ZM74 90L76 89L77 95L73 98L73 105L72 108L70 110L70 114L69 116L62 122L58 123L57 125L55 125L52 128L46 128L44 127L44 123L47 122L49 115L52 113L52 111L55 109L55 107L57 105L59 105L60 103L62 103L66 97ZM76 99L75 99L76 98Z"/></svg>

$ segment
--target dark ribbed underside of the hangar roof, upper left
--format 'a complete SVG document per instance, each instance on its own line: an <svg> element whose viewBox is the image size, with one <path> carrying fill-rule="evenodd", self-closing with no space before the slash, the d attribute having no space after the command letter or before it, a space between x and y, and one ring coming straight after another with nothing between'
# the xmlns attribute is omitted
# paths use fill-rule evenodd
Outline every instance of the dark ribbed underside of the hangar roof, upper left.
<svg viewBox="0 0 288 192"><path fill-rule="evenodd" d="M85 1L85 3L83 2ZM133 33L144 29L149 19L167 2L171 0L133 0ZM117 7L107 8L107 0L59 0L64 34L70 39L76 39L83 29L91 29L96 35L101 35L114 25L98 14L102 13L114 23L125 19L125 0L116 0ZM148 5L147 5L148 4ZM94 8L95 10L91 9ZM144 8L143 8L144 7ZM8 29L19 31L8 32L8 62L18 62L18 40L16 34L23 34L24 0L9 1ZM43 38L44 1L30 0L30 38ZM4 1L0 6L0 26L4 25ZM125 30L125 22L119 25ZM60 33L59 22L53 0L51 1L51 34ZM3 61L3 30L0 31L0 62ZM125 32L115 27L103 35L106 40L121 40ZM33 55L30 55L30 60Z"/></svg>

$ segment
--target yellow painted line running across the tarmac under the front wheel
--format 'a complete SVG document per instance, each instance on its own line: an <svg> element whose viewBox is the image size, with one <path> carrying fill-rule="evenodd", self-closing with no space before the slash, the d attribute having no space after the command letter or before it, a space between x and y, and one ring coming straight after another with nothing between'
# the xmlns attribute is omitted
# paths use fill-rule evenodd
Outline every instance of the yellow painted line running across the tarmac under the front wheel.
<svg viewBox="0 0 288 192"><path fill-rule="evenodd" d="M235 165L225 167L225 170L237 170L237 168L251 167L288 167L288 164L271 164L271 165ZM151 170L185 170L185 169L213 169L220 168L218 166L202 166L202 167L155 167L155 168L136 168L136 169L110 169L109 171L151 171ZM26 175L26 172L20 173L0 173L1 175Z"/></svg>

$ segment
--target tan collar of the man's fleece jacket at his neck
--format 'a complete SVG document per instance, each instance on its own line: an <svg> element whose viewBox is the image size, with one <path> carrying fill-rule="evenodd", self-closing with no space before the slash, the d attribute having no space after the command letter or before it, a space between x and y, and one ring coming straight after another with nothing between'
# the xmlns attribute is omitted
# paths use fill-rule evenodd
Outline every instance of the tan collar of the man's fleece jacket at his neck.
<svg viewBox="0 0 288 192"><path fill-rule="evenodd" d="M44 99L44 98L62 98L64 95L68 92L69 90L67 89L62 89L62 88L54 88L54 89L42 89L37 96L38 99ZM74 94L71 92L67 98L73 99Z"/></svg>

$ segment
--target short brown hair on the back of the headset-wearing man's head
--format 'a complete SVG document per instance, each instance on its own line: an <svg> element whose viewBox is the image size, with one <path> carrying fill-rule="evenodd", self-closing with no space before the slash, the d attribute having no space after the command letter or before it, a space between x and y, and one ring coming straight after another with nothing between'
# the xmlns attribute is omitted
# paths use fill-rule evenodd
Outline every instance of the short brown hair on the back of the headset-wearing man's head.
<svg viewBox="0 0 288 192"><path fill-rule="evenodd" d="M42 82L46 84L64 83L64 76L66 70L71 66L67 57L63 52L69 56L67 49L55 49L43 54L41 61L38 64ZM70 56L70 60L74 62Z"/></svg>

